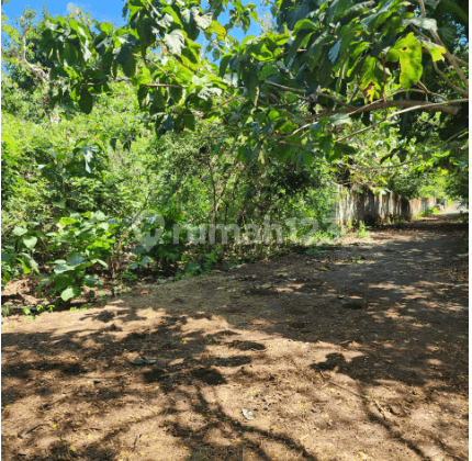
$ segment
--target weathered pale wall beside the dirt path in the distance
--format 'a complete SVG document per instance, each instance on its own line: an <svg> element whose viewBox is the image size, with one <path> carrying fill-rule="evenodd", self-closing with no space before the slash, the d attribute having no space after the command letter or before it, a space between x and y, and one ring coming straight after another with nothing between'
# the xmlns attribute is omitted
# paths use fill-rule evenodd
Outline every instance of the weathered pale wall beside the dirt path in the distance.
<svg viewBox="0 0 472 461"><path fill-rule="evenodd" d="M436 205L435 198L406 200L392 192L375 195L367 185L358 189L338 185L338 195L337 224L363 221L373 225L378 218L385 220L389 216L411 218Z"/></svg>

